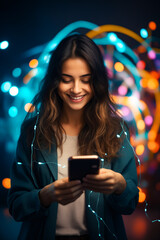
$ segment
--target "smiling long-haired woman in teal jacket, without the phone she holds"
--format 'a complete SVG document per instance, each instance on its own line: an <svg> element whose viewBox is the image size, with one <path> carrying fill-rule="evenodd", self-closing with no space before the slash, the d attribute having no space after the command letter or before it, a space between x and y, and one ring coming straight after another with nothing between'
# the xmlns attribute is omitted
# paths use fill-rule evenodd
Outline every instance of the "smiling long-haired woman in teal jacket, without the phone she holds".
<svg viewBox="0 0 160 240"><path fill-rule="evenodd" d="M33 105L39 112L22 125L8 198L23 222L19 239L127 239L121 214L138 202L135 159L91 39L62 40ZM102 158L99 174L69 181L68 157L88 154Z"/></svg>

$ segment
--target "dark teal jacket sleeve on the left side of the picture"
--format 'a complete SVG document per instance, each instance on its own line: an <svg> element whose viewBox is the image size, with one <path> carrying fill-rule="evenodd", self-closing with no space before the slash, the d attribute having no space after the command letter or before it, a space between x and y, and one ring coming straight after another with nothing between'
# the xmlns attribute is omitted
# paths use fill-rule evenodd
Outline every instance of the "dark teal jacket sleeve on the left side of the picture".
<svg viewBox="0 0 160 240"><path fill-rule="evenodd" d="M38 197L40 189L35 185L31 174L30 152L26 136L21 134L11 169L11 189L8 194L9 211L16 221L48 214L48 209L40 204Z"/></svg>

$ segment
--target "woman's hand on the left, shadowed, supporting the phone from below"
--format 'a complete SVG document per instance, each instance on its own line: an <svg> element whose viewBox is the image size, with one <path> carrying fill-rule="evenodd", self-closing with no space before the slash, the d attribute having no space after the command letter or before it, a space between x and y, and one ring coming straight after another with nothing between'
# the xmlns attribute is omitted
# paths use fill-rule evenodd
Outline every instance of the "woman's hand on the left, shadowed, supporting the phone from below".
<svg viewBox="0 0 160 240"><path fill-rule="evenodd" d="M45 186L39 192L39 198L44 207L48 207L52 202L66 205L75 201L82 193L83 186L81 181L69 182L68 178L63 178Z"/></svg>

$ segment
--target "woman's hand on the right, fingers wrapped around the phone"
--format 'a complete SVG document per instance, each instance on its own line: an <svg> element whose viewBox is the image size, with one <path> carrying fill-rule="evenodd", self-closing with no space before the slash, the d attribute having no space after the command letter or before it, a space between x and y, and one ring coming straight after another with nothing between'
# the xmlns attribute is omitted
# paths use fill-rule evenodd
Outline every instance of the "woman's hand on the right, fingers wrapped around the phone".
<svg viewBox="0 0 160 240"><path fill-rule="evenodd" d="M126 188L126 180L120 173L101 168L99 174L83 178L83 187L104 194L121 194Z"/></svg>

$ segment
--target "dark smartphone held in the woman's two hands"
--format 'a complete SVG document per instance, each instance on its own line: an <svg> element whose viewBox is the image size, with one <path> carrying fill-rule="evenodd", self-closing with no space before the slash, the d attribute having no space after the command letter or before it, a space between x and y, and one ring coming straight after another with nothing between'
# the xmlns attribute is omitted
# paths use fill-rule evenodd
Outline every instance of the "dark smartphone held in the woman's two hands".
<svg viewBox="0 0 160 240"><path fill-rule="evenodd" d="M98 174L100 158L98 155L72 156L68 158L69 181L81 180L87 174Z"/></svg>

